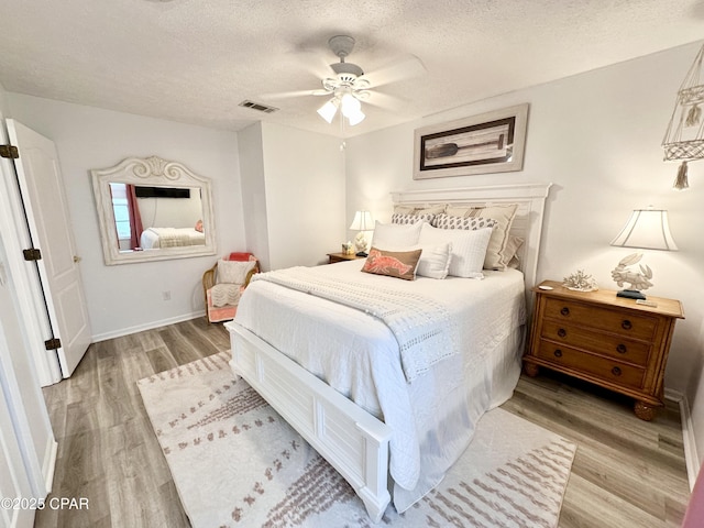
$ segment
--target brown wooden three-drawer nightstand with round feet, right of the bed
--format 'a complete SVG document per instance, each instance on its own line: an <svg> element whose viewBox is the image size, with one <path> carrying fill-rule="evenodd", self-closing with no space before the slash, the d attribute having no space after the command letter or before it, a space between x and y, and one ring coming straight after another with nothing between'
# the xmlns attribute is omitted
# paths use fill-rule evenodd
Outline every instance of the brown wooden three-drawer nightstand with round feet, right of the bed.
<svg viewBox="0 0 704 528"><path fill-rule="evenodd" d="M534 288L536 309L524 370L540 366L636 399L638 418L651 420L664 405L663 376L679 300L650 297L657 306L616 297L616 292L572 292L554 280Z"/></svg>

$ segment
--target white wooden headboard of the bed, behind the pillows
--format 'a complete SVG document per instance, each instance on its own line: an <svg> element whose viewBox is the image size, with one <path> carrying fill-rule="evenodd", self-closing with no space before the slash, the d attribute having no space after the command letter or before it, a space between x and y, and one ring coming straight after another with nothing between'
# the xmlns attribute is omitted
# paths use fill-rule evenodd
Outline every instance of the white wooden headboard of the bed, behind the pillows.
<svg viewBox="0 0 704 528"><path fill-rule="evenodd" d="M526 289L536 285L540 233L546 198L552 184L514 184L455 189L402 190L392 193L394 205L435 204L486 205L518 204L510 233L525 240L518 250Z"/></svg>

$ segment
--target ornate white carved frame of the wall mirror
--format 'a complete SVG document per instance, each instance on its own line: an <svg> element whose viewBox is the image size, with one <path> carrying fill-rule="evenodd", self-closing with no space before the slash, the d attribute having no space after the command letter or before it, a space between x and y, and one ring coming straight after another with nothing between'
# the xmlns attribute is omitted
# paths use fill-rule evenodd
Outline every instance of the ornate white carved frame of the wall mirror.
<svg viewBox="0 0 704 528"><path fill-rule="evenodd" d="M194 174L180 163L168 162L157 156L128 157L114 167L91 169L90 174L100 222L102 253L107 265L216 254L216 226L209 178ZM200 220L202 220L205 243L153 250L121 250L110 184L200 189L202 208Z"/></svg>

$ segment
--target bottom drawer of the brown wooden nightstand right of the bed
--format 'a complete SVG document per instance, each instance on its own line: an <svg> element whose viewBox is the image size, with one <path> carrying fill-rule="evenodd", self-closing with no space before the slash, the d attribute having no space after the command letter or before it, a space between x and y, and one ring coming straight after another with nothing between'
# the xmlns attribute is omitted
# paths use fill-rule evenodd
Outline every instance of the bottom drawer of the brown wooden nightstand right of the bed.
<svg viewBox="0 0 704 528"><path fill-rule="evenodd" d="M549 341L541 341L538 358L568 369L598 376L602 380L622 386L640 388L645 374L644 369L627 365L607 358L586 354L569 346L560 346Z"/></svg>

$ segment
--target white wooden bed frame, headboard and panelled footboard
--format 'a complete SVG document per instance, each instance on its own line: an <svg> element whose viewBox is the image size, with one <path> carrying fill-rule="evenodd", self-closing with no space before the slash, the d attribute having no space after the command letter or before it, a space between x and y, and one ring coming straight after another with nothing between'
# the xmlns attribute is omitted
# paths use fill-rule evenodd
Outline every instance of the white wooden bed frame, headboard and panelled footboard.
<svg viewBox="0 0 704 528"><path fill-rule="evenodd" d="M544 201L551 184L393 193L398 205L518 204L512 234L525 239L520 268L529 290L536 284ZM374 522L391 502L388 426L234 321L230 331L235 375L242 376L290 424L362 498Z"/></svg>

